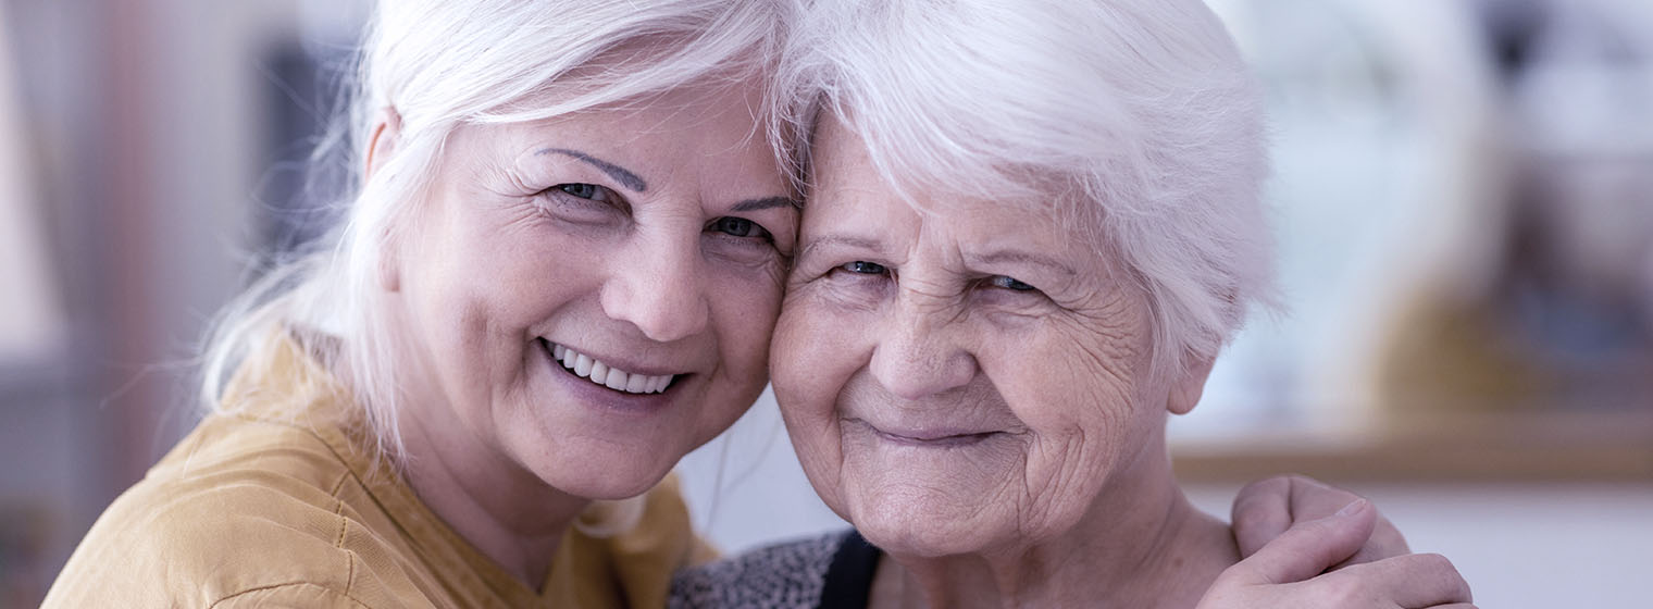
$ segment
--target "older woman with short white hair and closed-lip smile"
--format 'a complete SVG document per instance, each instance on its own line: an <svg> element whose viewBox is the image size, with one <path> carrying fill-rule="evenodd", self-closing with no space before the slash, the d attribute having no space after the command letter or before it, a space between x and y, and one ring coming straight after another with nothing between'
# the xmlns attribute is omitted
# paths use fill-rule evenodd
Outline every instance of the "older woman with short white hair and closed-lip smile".
<svg viewBox="0 0 1653 609"><path fill-rule="evenodd" d="M831 0L790 43L813 152L770 374L855 531L674 606L1468 606L1440 556L1248 591L1278 556L1177 487L1165 420L1271 278L1258 88L1205 5Z"/></svg>

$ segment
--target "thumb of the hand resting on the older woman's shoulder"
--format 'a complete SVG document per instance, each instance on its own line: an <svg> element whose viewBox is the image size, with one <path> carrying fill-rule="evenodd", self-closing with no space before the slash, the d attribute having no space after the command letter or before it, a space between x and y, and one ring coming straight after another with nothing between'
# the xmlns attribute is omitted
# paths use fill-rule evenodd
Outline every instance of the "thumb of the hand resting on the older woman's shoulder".
<svg viewBox="0 0 1653 609"><path fill-rule="evenodd" d="M1354 556L1372 536L1374 526L1377 510L1372 501L1355 500L1336 515L1293 525L1228 571L1251 584L1306 581Z"/></svg>

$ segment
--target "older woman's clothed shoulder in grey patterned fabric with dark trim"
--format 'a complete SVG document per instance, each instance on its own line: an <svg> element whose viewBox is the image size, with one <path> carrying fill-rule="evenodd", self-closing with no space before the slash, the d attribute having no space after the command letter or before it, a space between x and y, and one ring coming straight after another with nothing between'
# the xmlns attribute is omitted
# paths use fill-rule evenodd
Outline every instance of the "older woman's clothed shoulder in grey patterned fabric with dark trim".
<svg viewBox="0 0 1653 609"><path fill-rule="evenodd" d="M671 583L671 607L815 607L833 558L851 535L779 543L683 569Z"/></svg>

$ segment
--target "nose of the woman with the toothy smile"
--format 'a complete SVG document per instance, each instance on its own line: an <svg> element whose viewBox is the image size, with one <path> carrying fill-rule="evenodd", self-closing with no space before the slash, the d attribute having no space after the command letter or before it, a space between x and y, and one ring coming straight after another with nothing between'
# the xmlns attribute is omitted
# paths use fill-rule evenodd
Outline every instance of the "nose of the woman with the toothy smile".
<svg viewBox="0 0 1653 609"><path fill-rule="evenodd" d="M711 316L701 278L699 243L638 235L610 266L602 306L651 341L671 343L706 329Z"/></svg>

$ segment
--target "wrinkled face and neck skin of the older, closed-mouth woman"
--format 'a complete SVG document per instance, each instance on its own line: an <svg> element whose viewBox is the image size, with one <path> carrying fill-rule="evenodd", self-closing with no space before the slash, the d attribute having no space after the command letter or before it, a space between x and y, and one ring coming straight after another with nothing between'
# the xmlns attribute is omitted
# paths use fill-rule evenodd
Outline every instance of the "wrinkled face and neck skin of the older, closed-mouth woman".
<svg viewBox="0 0 1653 609"><path fill-rule="evenodd" d="M817 192L774 343L777 399L828 506L931 606L1179 602L1167 591L1215 576L1220 551L1170 574L1136 571L1231 536L1210 535L1220 523L1165 487L1179 386L1149 374L1155 314L1099 255L1108 245L1076 240L1048 207L934 192L912 205L866 187L878 177L856 165L858 146L835 124L817 141ZM888 271L843 266L858 260ZM1073 276L1053 280L1066 275L1053 266ZM1041 291L984 283L1000 273ZM856 420L947 429L985 414L1018 432L932 448L886 445Z"/></svg>

